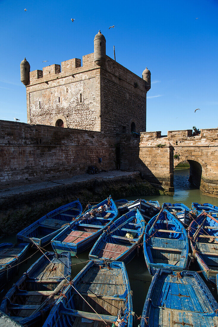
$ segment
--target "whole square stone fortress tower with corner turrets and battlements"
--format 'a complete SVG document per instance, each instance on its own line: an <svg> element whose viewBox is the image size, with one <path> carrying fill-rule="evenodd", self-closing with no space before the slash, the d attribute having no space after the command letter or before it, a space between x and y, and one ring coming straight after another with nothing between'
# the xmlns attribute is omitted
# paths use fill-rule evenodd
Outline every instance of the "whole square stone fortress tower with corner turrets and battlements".
<svg viewBox="0 0 218 327"><path fill-rule="evenodd" d="M20 64L27 89L27 121L75 129L116 133L146 131L146 94L151 73L143 78L106 55L99 31L94 53L30 72L26 58Z"/></svg>

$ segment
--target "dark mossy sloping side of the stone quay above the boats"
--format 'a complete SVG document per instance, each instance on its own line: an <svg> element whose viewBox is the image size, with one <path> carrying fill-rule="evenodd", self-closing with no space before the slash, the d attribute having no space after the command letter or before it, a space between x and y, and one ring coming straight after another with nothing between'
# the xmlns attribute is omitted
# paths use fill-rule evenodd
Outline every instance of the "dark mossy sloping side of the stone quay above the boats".
<svg viewBox="0 0 218 327"><path fill-rule="evenodd" d="M93 182L77 184L76 187L57 184L52 191L40 190L35 194L24 196L23 199L20 197L19 201L16 199L11 201L11 205L6 206L0 213L0 235L16 234L46 213L77 198L81 201L84 210L88 202L99 203L109 195L113 199L164 195L164 191L155 189L136 173L123 178L109 178L106 181L99 179L94 184Z"/></svg>

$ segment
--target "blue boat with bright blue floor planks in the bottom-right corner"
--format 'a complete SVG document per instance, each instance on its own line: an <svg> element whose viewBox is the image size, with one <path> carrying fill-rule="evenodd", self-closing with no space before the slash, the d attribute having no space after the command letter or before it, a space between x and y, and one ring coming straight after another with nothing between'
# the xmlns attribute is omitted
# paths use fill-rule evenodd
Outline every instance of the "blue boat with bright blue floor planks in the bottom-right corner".
<svg viewBox="0 0 218 327"><path fill-rule="evenodd" d="M158 269L149 287L140 327L217 326L218 303L195 271Z"/></svg>

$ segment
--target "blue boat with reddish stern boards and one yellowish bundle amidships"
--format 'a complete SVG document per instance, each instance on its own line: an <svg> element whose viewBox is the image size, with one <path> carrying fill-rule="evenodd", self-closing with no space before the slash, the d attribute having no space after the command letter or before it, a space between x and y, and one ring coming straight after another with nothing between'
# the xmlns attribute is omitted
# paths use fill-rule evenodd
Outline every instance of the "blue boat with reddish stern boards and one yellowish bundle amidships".
<svg viewBox="0 0 218 327"><path fill-rule="evenodd" d="M99 239L89 253L89 259L110 259L129 263L138 251L145 221L138 209L118 218Z"/></svg>

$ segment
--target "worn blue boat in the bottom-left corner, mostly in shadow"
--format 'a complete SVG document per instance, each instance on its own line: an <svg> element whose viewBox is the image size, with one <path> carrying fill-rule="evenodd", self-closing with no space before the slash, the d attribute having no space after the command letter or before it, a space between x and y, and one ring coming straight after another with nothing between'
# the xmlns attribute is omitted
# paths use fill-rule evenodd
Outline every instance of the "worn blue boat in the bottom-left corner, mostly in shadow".
<svg viewBox="0 0 218 327"><path fill-rule="evenodd" d="M0 310L21 325L42 326L51 304L61 293L64 277L70 280L70 253L56 255L54 252L46 252L45 255L11 287L1 303ZM59 293L57 289L60 289Z"/></svg>

